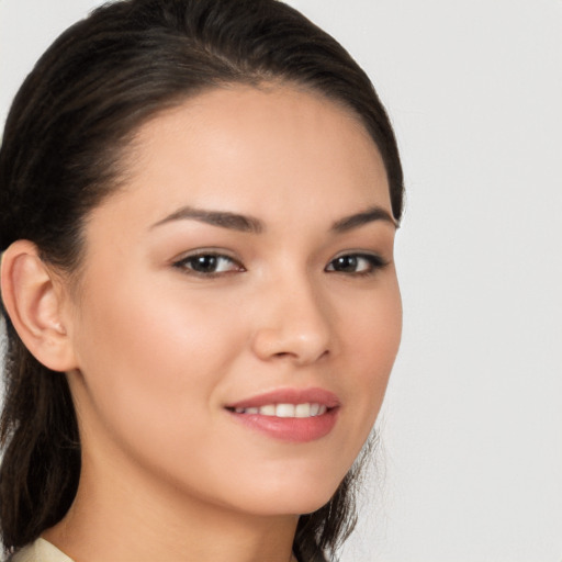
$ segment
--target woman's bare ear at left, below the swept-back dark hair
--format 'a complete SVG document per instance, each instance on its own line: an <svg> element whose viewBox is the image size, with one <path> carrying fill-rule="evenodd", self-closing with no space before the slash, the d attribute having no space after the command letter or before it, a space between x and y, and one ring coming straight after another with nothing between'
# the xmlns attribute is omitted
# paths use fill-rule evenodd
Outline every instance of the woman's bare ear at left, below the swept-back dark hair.
<svg viewBox="0 0 562 562"><path fill-rule="evenodd" d="M66 291L36 246L14 241L2 255L0 274L5 310L25 347L53 371L75 369L74 348L61 317Z"/></svg>

